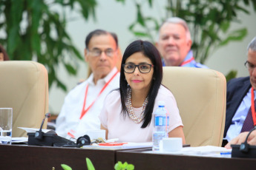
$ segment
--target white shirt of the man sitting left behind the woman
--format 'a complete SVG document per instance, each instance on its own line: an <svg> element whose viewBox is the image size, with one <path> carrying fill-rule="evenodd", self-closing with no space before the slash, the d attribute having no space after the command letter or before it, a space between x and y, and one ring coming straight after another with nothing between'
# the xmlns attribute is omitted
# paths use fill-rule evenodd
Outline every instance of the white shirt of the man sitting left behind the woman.
<svg viewBox="0 0 256 170"><path fill-rule="evenodd" d="M64 104L62 106L61 112L56 119L56 133L59 136L66 137L70 139L71 133L75 138L83 136L88 130L100 129L99 114L102 110L103 102L106 95L113 89L119 88L119 72L117 72L116 67L111 70L111 72L102 79L99 79L96 84L93 82L93 74L83 82L72 89L65 98ZM99 92L105 86L105 84L114 76L112 81L106 86L105 90L99 95ZM93 103L91 108L86 112L86 114L80 120L82 113L82 107L85 101L85 89L88 85L88 94L85 103L85 109ZM99 97L98 97L99 95Z"/></svg>

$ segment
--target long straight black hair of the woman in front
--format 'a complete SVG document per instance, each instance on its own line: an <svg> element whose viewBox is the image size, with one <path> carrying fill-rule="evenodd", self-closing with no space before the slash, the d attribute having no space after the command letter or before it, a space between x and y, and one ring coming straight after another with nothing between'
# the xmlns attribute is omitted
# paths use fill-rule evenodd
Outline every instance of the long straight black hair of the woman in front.
<svg viewBox="0 0 256 170"><path fill-rule="evenodd" d="M148 104L145 106L145 112L143 113L142 119L141 128L145 128L151 123L152 112L154 109L154 101L157 98L157 93L163 79L163 65L160 53L158 52L157 48L154 47L151 42L142 40L134 41L128 45L122 57L122 64L125 64L126 59L136 52L142 52L142 54L145 55L145 57L148 57L154 65L153 80L151 81L151 87L148 91ZM128 92L128 83L127 81L125 81L125 71L123 67L121 67L120 71L119 90L121 95L122 113L125 116L128 115L128 109L125 106Z"/></svg>

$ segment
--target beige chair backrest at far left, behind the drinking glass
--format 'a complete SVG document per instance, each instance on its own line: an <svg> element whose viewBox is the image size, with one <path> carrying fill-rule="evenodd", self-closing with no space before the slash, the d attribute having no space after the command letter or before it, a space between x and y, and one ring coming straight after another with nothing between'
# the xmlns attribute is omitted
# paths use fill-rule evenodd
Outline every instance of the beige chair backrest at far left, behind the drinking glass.
<svg viewBox="0 0 256 170"><path fill-rule="evenodd" d="M0 107L13 108L13 137L27 137L18 127L40 128L48 112L45 67L34 61L0 62Z"/></svg>

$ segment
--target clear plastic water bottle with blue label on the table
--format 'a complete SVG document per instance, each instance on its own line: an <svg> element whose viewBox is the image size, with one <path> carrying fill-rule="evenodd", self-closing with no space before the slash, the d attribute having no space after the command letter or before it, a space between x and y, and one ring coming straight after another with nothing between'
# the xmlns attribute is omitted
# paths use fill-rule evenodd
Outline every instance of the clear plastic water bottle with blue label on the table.
<svg viewBox="0 0 256 170"><path fill-rule="evenodd" d="M160 141L168 137L169 115L165 109L165 102L159 101L154 112L154 130L152 135L153 151L160 150Z"/></svg>

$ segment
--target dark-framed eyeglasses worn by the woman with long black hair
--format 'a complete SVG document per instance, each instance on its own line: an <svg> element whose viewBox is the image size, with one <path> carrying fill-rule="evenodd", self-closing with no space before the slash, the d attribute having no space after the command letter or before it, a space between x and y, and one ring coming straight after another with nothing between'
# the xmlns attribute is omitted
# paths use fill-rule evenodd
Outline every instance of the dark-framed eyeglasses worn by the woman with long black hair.
<svg viewBox="0 0 256 170"><path fill-rule="evenodd" d="M135 64L122 64L122 67L124 67L124 70L126 73L133 73L136 69L136 67L138 67L138 69L140 70L141 73L148 73L151 70L151 67L154 67L154 65L152 64L139 64L139 65L135 65Z"/></svg>

